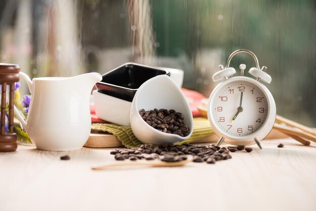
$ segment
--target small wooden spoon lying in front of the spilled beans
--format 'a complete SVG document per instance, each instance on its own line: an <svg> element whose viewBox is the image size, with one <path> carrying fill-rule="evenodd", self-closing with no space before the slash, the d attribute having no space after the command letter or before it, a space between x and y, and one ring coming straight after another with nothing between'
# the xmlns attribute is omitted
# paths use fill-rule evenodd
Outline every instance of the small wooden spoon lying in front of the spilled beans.
<svg viewBox="0 0 316 211"><path fill-rule="evenodd" d="M148 166L148 167L176 167L184 166L187 163L193 161L193 156L188 155L187 160L177 161L177 162L165 162L165 161L134 161L134 162L121 162L121 163L112 163L92 167L92 170L103 170L111 167L122 167L122 166Z"/></svg>

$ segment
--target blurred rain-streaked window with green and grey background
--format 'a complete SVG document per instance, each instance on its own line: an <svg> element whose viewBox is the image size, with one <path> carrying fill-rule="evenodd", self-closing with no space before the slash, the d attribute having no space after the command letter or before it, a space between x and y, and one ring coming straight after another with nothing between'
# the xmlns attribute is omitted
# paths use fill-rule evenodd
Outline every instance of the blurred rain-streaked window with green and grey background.
<svg viewBox="0 0 316 211"><path fill-rule="evenodd" d="M208 97L218 66L245 48L268 67L277 113L316 127L315 14L314 0L1 0L0 62L30 77L178 68ZM246 54L231 66L241 63L254 66Z"/></svg>

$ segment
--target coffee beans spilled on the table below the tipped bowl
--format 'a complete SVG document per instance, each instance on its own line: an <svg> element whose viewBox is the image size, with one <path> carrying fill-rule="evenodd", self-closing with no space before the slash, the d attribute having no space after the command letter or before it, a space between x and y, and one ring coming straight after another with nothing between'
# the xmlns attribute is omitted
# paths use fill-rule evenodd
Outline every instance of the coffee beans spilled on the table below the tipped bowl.
<svg viewBox="0 0 316 211"><path fill-rule="evenodd" d="M120 149L113 150L111 154L115 155L117 161L124 160L155 160L160 159L165 162L178 162L186 160L186 155L193 155L193 162L201 163L206 162L207 164L215 164L216 161L231 159L232 156L226 147L214 146L210 144L204 145L151 145L143 144L139 148L135 149Z"/></svg>

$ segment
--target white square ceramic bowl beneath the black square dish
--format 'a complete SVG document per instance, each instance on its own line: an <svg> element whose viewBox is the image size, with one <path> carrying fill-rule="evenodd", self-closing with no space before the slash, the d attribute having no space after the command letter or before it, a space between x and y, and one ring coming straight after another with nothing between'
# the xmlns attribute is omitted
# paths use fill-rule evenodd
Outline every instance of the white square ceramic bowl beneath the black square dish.
<svg viewBox="0 0 316 211"><path fill-rule="evenodd" d="M168 76L167 76L168 77ZM132 102L93 91L95 114L101 120L117 125L130 126Z"/></svg>

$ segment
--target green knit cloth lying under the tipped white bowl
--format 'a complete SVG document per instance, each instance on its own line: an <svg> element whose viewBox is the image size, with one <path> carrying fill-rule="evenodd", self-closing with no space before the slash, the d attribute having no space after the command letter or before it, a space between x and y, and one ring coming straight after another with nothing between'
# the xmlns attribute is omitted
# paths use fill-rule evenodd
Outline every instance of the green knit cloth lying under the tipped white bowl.
<svg viewBox="0 0 316 211"><path fill-rule="evenodd" d="M190 138L179 142L178 144L190 143L204 138L214 133L209 122L205 118L193 118L193 133ZM119 141L127 148L135 148L143 144L133 134L132 128L115 124L92 124L92 132L108 132L115 135Z"/></svg>

